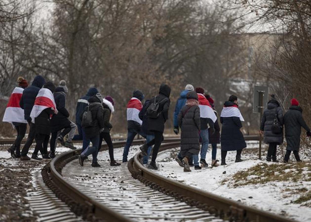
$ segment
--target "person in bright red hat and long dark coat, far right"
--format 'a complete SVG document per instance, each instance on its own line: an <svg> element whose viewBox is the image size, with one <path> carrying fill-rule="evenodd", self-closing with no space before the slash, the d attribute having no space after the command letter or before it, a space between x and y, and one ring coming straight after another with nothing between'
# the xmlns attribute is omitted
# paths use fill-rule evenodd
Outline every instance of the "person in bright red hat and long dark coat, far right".
<svg viewBox="0 0 311 222"><path fill-rule="evenodd" d="M291 100L291 107L284 115L285 137L287 142L284 163L288 163L290 153L293 151L296 161L301 162L299 157L301 127L307 131L307 136L311 136L310 128L304 122L302 109L297 99Z"/></svg>

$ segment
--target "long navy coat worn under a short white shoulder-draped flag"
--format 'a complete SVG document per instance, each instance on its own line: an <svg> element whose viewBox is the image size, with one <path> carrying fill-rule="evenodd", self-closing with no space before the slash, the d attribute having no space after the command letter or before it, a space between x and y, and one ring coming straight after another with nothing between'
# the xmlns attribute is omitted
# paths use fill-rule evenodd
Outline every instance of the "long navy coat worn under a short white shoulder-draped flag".
<svg viewBox="0 0 311 222"><path fill-rule="evenodd" d="M233 102L226 101L224 106L231 107L235 104ZM242 150L246 147L244 136L240 131L242 123L239 117L220 117L221 135L220 143L222 151L230 150Z"/></svg>

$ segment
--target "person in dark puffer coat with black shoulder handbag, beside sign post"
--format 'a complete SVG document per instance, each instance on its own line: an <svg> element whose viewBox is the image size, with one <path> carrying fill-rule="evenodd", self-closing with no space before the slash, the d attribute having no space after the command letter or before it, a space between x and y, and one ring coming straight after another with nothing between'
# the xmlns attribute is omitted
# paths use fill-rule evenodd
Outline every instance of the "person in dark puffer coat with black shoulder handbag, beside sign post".
<svg viewBox="0 0 311 222"><path fill-rule="evenodd" d="M271 95L271 100L268 102L267 108L264 110L261 124L260 133L263 134L264 142L269 144L267 161L278 162L276 160L276 146L283 143L283 132L275 134L272 132L272 125L275 116L277 116L281 126L283 125L283 112L280 103Z"/></svg>

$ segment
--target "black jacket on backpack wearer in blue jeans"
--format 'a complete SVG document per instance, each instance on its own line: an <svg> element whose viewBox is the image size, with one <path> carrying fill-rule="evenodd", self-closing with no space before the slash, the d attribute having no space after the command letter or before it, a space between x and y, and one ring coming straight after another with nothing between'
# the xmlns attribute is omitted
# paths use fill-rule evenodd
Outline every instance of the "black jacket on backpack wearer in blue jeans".
<svg viewBox="0 0 311 222"><path fill-rule="evenodd" d="M84 127L84 132L86 134L86 138L93 138L100 134L100 129L104 128L104 110L102 101L100 101L95 95L92 96L89 100L89 106L85 108L84 111L89 111L92 113L92 126ZM80 122L82 121L82 114L80 116Z"/></svg>

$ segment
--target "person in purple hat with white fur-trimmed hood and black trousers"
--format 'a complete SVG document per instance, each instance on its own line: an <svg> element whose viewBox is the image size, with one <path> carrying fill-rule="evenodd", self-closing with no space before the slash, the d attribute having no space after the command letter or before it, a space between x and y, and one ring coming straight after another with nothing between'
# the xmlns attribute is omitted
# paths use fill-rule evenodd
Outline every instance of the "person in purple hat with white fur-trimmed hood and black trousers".
<svg viewBox="0 0 311 222"><path fill-rule="evenodd" d="M106 96L103 99L103 113L104 113L104 129L100 132L98 151L101 149L103 139L109 148L110 166L120 166L114 160L114 145L111 140L110 130L112 129L112 124L110 123L112 118L112 113L114 113L114 100L111 96Z"/></svg>

